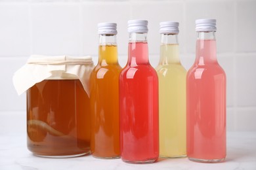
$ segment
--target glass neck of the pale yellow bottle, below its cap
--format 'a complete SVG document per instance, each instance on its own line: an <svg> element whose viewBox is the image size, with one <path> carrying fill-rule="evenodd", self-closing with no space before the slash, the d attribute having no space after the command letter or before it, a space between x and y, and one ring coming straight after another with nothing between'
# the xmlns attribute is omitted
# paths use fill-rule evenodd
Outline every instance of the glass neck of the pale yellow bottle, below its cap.
<svg viewBox="0 0 256 170"><path fill-rule="evenodd" d="M160 65L181 63L179 58L179 42L177 34L161 34Z"/></svg>

